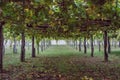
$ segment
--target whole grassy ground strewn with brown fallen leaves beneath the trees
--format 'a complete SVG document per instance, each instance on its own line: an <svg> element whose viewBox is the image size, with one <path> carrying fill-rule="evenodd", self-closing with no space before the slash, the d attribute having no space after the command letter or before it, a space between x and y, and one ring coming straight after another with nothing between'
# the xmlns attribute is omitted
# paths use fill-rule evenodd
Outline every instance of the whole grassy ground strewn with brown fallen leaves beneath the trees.
<svg viewBox="0 0 120 80"><path fill-rule="evenodd" d="M4 56L6 72L0 80L120 80L119 49L113 50L107 63L97 49L94 58L90 50L84 54L68 46L52 46L36 58L27 50L24 63L19 62L19 53L10 54L10 50Z"/></svg>

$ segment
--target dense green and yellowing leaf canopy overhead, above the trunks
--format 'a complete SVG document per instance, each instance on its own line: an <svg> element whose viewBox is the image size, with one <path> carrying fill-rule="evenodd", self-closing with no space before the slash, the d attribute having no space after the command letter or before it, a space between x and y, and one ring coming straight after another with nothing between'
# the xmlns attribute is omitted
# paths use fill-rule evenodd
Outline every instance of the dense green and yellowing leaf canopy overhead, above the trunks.
<svg viewBox="0 0 120 80"><path fill-rule="evenodd" d="M120 25L120 0L28 0L22 3L8 2L0 10L2 20L11 24L8 29L14 33L26 30L27 24L32 25L33 30L48 25L48 29L39 29L38 33L46 37L75 37L92 34L94 30L117 29ZM109 27L105 27L105 20L111 21Z"/></svg>

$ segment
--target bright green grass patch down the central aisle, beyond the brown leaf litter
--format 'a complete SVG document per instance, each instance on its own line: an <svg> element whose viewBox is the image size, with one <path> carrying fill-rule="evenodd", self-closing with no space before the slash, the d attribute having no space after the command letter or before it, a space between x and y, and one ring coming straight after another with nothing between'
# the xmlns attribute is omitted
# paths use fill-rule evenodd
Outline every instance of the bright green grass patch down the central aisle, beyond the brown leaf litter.
<svg viewBox="0 0 120 80"><path fill-rule="evenodd" d="M80 55L80 52L67 46L52 46L49 49L47 49L45 52L41 53L41 55L48 57L73 56L73 55L77 56Z"/></svg>

